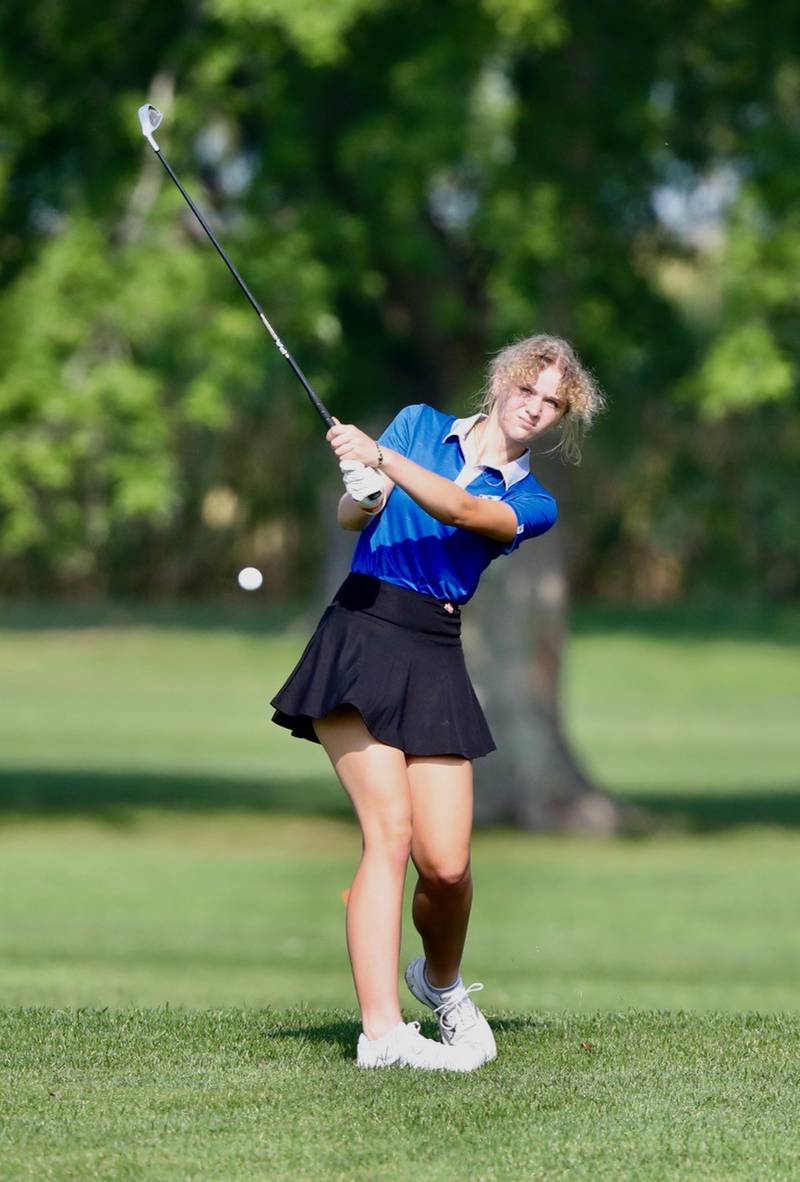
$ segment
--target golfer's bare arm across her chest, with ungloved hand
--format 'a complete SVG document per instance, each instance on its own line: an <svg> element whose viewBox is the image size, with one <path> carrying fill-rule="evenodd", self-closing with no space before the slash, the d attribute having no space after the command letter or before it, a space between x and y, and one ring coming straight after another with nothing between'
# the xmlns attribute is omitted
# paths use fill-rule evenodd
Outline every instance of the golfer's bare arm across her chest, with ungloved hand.
<svg viewBox="0 0 800 1182"><path fill-rule="evenodd" d="M326 437L339 460L359 460L372 468L377 467L378 444L357 427L337 423ZM516 537L516 514L509 505L473 496L451 480L422 468L414 460L392 452L391 448L382 448L382 452L383 463L379 470L437 521L460 530L471 530L473 533L483 534L494 541L509 543ZM364 526L345 526L345 528L364 528Z"/></svg>

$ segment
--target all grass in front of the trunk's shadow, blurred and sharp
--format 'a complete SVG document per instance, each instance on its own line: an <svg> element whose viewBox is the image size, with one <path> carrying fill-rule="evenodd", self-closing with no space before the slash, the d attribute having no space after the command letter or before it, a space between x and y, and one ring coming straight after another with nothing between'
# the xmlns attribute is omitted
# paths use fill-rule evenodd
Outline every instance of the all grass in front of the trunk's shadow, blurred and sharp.
<svg viewBox="0 0 800 1182"><path fill-rule="evenodd" d="M466 969L500 1057L422 1080L352 1061L352 826L1 832L4 1182L796 1176L793 832L479 834Z"/></svg>

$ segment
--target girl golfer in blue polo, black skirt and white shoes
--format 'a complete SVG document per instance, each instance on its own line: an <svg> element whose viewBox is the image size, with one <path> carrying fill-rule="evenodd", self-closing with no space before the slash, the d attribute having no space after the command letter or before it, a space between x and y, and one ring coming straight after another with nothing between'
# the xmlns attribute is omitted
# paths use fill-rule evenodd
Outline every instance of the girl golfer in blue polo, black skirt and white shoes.
<svg viewBox="0 0 800 1182"><path fill-rule="evenodd" d="M471 760L494 749L461 649L461 604L481 572L555 521L528 444L555 428L578 440L603 404L566 342L529 337L489 366L481 413L405 407L378 440L337 424L327 440L347 493L339 525L362 531L351 573L273 699L274 721L325 748L363 834L347 902L347 949L362 1013L358 1065L473 1071L496 1054L461 975L473 898ZM359 501L376 483L375 508ZM414 923L424 956L405 981L442 1041L401 1017L403 885L417 871Z"/></svg>

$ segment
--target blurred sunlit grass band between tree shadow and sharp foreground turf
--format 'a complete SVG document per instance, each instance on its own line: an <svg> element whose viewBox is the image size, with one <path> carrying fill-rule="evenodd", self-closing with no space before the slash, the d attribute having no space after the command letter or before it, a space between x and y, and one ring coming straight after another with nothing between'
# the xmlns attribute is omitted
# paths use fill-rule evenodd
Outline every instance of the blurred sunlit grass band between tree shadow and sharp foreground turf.
<svg viewBox="0 0 800 1182"><path fill-rule="evenodd" d="M489 1008L800 1013L796 836L482 833L466 972ZM0 999L352 1006L353 826L242 814L0 830ZM405 950L416 949L412 929ZM414 953L416 955L416 952Z"/></svg>

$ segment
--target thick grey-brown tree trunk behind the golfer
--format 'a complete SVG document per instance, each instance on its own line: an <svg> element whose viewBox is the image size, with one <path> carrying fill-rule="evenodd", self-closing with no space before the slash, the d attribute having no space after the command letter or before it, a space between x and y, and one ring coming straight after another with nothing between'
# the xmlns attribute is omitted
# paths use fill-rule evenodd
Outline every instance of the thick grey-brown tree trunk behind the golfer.
<svg viewBox="0 0 800 1182"><path fill-rule="evenodd" d="M546 459L535 470L559 500L559 522L493 563L464 612L470 671L497 743L475 765L475 814L521 829L609 833L623 810L591 782L560 721L566 473Z"/></svg>

